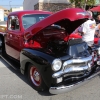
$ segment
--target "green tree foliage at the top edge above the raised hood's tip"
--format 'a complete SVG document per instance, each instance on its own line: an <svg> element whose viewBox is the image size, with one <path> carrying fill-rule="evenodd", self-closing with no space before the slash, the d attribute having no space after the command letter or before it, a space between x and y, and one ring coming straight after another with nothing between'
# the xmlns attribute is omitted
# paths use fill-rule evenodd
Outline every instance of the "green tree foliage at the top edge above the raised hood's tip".
<svg viewBox="0 0 100 100"><path fill-rule="evenodd" d="M95 0L70 0L71 3L75 4L75 7L83 8L85 5L94 5Z"/></svg>

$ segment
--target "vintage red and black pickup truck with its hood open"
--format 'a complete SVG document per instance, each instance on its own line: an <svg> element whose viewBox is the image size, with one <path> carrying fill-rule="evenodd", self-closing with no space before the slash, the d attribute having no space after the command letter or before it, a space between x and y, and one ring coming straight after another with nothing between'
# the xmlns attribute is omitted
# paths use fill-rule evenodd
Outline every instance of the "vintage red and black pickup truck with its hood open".
<svg viewBox="0 0 100 100"><path fill-rule="evenodd" d="M8 16L6 32L0 32L0 49L12 67L27 75L37 91L51 94L72 90L93 77L99 68L81 39L70 34L89 18L79 8L56 13L18 11Z"/></svg>

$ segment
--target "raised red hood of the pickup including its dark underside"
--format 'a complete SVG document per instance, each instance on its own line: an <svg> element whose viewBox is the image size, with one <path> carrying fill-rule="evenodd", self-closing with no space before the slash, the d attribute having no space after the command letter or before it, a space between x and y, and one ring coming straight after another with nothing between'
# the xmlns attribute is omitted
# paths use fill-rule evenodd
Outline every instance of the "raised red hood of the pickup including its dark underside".
<svg viewBox="0 0 100 100"><path fill-rule="evenodd" d="M51 25L58 25L65 28L66 34L70 35L78 26L89 18L89 13L80 8L69 8L56 12L40 22L25 30L25 40Z"/></svg>

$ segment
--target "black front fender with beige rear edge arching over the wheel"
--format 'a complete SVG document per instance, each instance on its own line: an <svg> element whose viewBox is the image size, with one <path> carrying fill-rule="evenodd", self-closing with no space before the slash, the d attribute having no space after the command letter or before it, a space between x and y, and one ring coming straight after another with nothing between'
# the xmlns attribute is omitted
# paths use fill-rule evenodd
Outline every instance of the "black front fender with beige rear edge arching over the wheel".
<svg viewBox="0 0 100 100"><path fill-rule="evenodd" d="M34 66L36 66L36 67L38 67L39 68L39 70L40 70L40 72L42 73L42 78L43 78L43 80L44 80L44 82L45 82L45 84L48 86L48 87L50 87L50 85L51 85L51 83L52 83L52 73L53 73L53 71L52 71L52 69L51 69L51 62L52 62L52 60L54 59L53 57L50 57L49 55L48 55L48 57L47 57L47 54L44 54L44 56L42 55L42 53L40 54L40 51L36 51L35 52L35 50L32 50L31 49L31 51L32 52L30 52L31 54L29 54L29 51L27 51L27 50L22 50L21 51L21 54L20 54L20 64L21 64L21 73L22 74L26 74L27 73L27 70L28 70L28 65L29 64L33 64ZM37 53L38 52L38 53ZM25 53L25 54L24 54ZM28 54L28 55L26 55L26 54ZM37 54L37 57L40 57L41 55L41 59L42 60L44 60L45 59L45 57L47 57L47 59L46 59L46 62L45 62L45 64L44 65L41 65L41 64L39 64L39 63L37 63L37 62L35 62L34 60L36 60L36 59L38 59L38 58L36 58L36 55ZM33 55L33 56L35 56L35 59L31 59L30 57L29 57L29 55ZM42 58L43 57L43 58ZM41 60L40 59L40 60ZM51 60L51 61L50 61ZM39 60L38 60L39 61Z"/></svg>

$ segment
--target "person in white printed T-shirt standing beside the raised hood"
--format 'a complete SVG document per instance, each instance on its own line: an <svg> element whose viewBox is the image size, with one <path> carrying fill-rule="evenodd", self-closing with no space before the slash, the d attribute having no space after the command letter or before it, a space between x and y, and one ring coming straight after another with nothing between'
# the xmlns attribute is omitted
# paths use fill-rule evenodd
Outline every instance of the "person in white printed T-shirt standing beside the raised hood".
<svg viewBox="0 0 100 100"><path fill-rule="evenodd" d="M79 31L81 32L82 40L85 41L87 45L91 47L94 44L96 22L92 17L92 12L87 12L90 14L90 18L81 25Z"/></svg>

